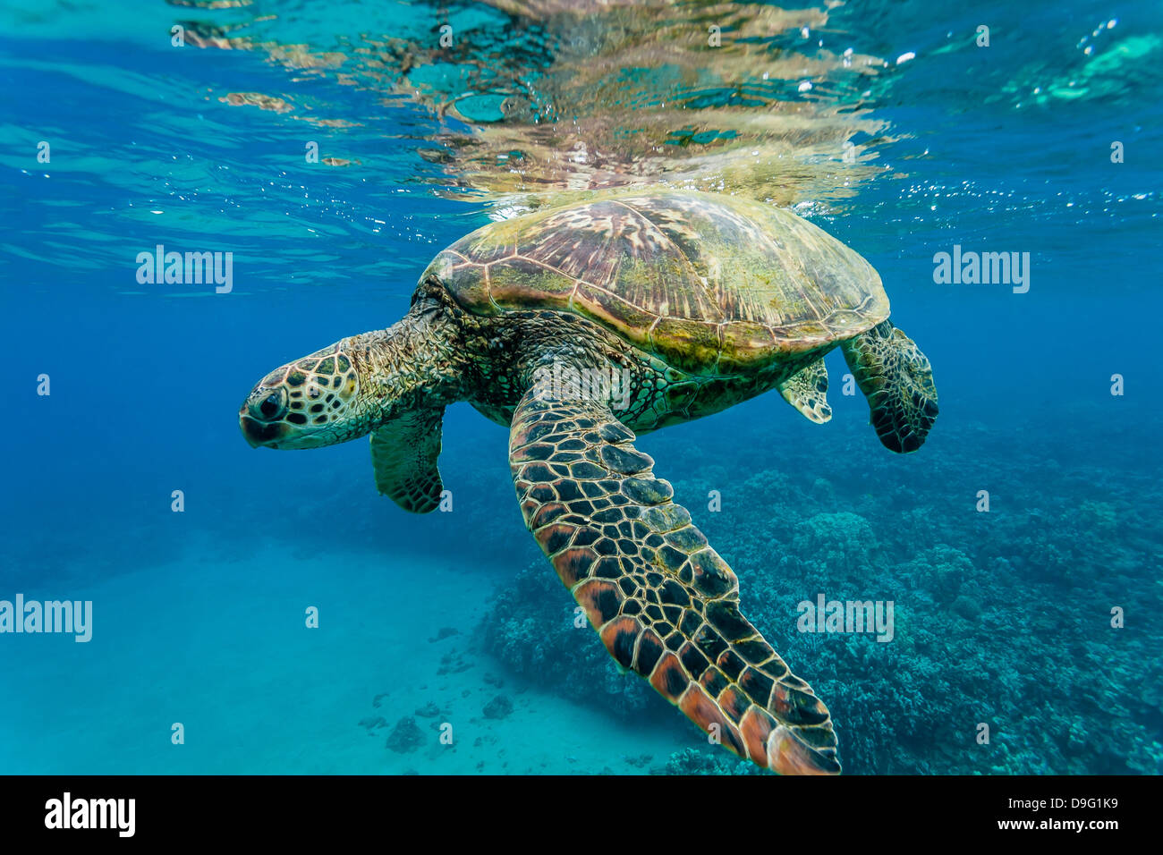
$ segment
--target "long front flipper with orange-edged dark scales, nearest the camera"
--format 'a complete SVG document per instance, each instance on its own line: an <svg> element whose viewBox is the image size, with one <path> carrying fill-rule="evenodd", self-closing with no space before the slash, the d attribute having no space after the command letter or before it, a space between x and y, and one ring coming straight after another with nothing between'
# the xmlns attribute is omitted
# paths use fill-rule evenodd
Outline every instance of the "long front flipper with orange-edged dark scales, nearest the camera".
<svg viewBox="0 0 1163 855"><path fill-rule="evenodd" d="M827 708L740 614L735 573L601 401L535 384L509 466L526 525L606 649L741 757L836 774Z"/></svg>

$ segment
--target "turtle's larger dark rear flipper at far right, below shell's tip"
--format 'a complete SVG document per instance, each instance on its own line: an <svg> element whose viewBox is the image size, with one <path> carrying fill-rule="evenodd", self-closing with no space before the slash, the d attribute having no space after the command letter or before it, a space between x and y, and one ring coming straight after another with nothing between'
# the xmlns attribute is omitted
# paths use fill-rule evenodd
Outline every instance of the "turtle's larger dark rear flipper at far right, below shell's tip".
<svg viewBox="0 0 1163 855"><path fill-rule="evenodd" d="M937 390L925 354L889 321L841 348L884 447L898 454L919 449L937 418Z"/></svg>

